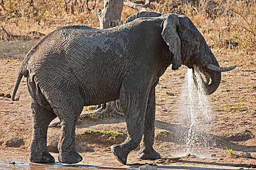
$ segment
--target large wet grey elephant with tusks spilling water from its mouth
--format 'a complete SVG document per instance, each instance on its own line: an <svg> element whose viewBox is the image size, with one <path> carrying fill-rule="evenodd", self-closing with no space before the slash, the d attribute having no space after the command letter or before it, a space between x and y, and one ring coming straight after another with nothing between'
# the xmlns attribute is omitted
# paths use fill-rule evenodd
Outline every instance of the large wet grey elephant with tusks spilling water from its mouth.
<svg viewBox="0 0 256 170"><path fill-rule="evenodd" d="M122 164L140 145L138 159L158 159L154 150L156 97L159 77L172 65L176 70L196 65L205 76L206 93L213 93L222 71L193 22L184 15L140 12L123 25L95 29L61 27L42 38L25 56L13 90L27 79L33 114L30 161L54 162L46 148L49 123L63 120L59 162L82 160L75 146L76 122L84 106L119 99L125 113L126 140L111 146Z"/></svg>

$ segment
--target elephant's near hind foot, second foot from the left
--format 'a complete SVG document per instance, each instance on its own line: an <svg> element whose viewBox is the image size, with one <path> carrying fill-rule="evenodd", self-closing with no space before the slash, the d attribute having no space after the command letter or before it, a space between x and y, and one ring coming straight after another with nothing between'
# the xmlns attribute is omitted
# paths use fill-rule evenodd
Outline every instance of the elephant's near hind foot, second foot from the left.
<svg viewBox="0 0 256 170"><path fill-rule="evenodd" d="M82 160L82 156L77 151L71 151L68 153L59 153L59 162L66 164L76 164Z"/></svg>

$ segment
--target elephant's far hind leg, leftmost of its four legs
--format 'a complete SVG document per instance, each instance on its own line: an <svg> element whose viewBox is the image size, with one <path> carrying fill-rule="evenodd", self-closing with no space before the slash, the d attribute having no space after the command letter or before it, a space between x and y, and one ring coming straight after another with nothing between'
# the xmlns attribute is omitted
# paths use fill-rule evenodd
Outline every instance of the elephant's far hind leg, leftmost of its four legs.
<svg viewBox="0 0 256 170"><path fill-rule="evenodd" d="M57 116L36 103L31 102L31 112L34 116L33 136L30 144L30 161L34 163L54 162L54 157L47 150L47 130L50 122Z"/></svg>

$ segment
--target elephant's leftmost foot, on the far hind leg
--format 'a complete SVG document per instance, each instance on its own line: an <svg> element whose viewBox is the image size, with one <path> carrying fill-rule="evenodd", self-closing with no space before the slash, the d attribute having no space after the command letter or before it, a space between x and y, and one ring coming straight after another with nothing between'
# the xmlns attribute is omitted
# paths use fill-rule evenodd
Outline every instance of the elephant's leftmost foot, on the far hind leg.
<svg viewBox="0 0 256 170"><path fill-rule="evenodd" d="M31 153L30 162L33 162L33 163L52 163L52 162L55 162L55 159L49 152L44 152L42 154Z"/></svg>

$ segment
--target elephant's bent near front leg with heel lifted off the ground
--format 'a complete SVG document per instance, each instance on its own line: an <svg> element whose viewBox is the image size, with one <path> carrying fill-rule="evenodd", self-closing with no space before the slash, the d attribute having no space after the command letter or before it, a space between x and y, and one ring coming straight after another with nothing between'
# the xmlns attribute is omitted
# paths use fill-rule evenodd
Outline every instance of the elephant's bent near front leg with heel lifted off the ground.
<svg viewBox="0 0 256 170"><path fill-rule="evenodd" d="M129 88L125 88L127 89ZM136 92L126 94L123 93L124 90L120 92L120 104L126 113L128 136L123 143L111 146L111 151L122 164L126 164L128 154L138 147L143 135L149 94L145 89L137 89Z"/></svg>

